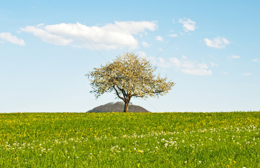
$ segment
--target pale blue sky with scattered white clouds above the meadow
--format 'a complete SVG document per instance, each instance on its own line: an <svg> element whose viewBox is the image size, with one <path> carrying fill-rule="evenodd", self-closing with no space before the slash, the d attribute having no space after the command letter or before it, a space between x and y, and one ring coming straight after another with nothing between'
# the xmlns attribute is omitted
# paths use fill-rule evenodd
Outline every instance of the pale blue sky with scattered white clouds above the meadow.
<svg viewBox="0 0 260 168"><path fill-rule="evenodd" d="M3 1L0 112L86 112L119 101L96 100L85 74L124 51L156 58L157 73L176 83L159 99L131 99L151 112L260 110L259 8L260 1Z"/></svg>

